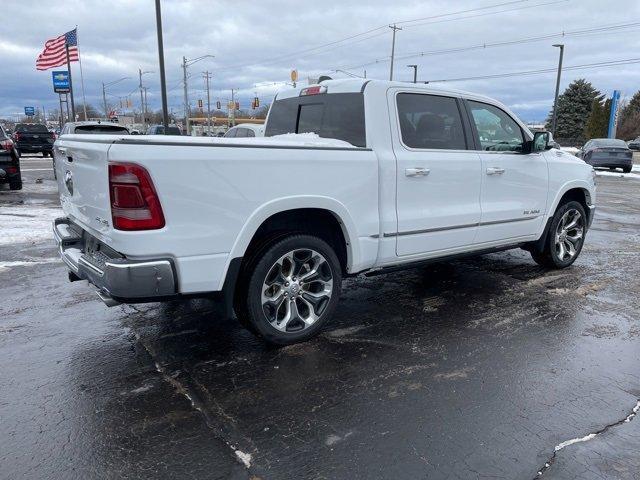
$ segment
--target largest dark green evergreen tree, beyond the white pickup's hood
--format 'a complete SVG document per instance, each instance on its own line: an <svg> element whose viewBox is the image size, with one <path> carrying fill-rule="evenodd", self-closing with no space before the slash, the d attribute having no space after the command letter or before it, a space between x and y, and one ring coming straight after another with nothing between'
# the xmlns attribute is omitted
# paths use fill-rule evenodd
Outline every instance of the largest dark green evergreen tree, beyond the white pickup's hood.
<svg viewBox="0 0 640 480"><path fill-rule="evenodd" d="M569 84L562 95L558 96L558 119L555 137L575 139L581 142L593 101L600 96L590 82L580 78ZM551 129L553 110L547 119L547 128Z"/></svg>

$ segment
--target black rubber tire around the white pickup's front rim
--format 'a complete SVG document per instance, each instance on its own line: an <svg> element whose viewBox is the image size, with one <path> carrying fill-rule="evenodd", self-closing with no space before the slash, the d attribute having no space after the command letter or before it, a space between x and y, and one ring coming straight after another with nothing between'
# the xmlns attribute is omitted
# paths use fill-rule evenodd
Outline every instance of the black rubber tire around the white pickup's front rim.
<svg viewBox="0 0 640 480"><path fill-rule="evenodd" d="M563 221L563 218L568 212L578 212L580 214L580 222L579 228L581 231L580 238L573 242L570 240L572 237L576 237L578 228L571 229L569 231L573 232L573 235L569 236L567 232L563 231L563 228L560 226L560 223ZM569 218L571 218L571 213L569 214ZM584 207L576 201L569 201L561 204L556 213L553 215L553 219L551 220L551 225L549 226L549 231L547 232L547 238L544 242L544 248L542 251L532 250L531 257L533 260L543 267L547 268L566 268L576 261L580 252L582 251L582 246L584 245L585 235L587 233L587 215L584 211ZM575 253L572 256L568 256L568 249L564 246L559 248L559 244L556 244L556 234L560 232L560 238L562 240L560 243L564 245L568 245L567 242L570 242L573 245ZM562 236L564 235L564 236ZM566 254L563 254L563 252ZM562 257L561 257L562 255Z"/></svg>

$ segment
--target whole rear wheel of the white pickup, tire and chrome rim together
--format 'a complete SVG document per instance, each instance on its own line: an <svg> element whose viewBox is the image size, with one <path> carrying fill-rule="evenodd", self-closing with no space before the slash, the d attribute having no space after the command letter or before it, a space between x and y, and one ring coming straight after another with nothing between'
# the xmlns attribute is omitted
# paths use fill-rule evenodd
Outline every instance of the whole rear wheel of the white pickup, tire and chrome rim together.
<svg viewBox="0 0 640 480"><path fill-rule="evenodd" d="M340 296L342 273L322 239L291 235L249 265L238 315L267 342L289 345L316 335Z"/></svg>

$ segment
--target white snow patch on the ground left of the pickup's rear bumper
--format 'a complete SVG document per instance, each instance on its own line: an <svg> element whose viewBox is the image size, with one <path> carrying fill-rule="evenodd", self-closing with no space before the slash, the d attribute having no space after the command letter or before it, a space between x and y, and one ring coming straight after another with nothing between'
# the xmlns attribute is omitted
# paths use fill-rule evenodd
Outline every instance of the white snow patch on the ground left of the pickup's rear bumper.
<svg viewBox="0 0 640 480"><path fill-rule="evenodd" d="M0 245L52 241L51 222L62 215L60 208L0 206Z"/></svg>

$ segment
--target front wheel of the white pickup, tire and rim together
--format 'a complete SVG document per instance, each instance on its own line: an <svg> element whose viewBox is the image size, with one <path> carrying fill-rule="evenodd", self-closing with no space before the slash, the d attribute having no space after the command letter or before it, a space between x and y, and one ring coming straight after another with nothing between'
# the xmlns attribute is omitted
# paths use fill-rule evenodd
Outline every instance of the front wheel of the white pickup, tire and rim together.
<svg viewBox="0 0 640 480"><path fill-rule="evenodd" d="M582 205L576 201L564 203L551 220L544 249L532 251L531 256L539 265L566 268L580 255L586 233L587 215Z"/></svg>

